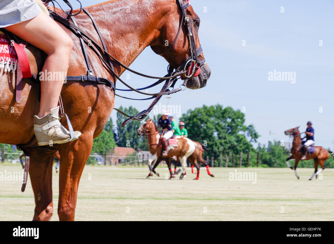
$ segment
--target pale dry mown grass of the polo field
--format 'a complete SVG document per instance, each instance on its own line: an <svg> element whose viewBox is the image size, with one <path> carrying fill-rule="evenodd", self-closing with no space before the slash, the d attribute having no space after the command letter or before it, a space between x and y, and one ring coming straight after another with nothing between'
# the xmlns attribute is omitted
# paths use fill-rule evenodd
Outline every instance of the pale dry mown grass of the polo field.
<svg viewBox="0 0 334 244"><path fill-rule="evenodd" d="M60 166L61 167L61 166ZM200 179L187 170L187 178L146 180L148 167L91 167L83 171L75 220L334 220L334 169L323 179L308 181L314 169L298 170L300 180L289 168L236 168L257 173L257 182L229 181L233 168L210 168L211 178L201 168ZM4 170L22 171L20 165L0 165ZM90 179L91 176L91 179ZM21 182L0 181L0 220L30 221L34 198L30 181L21 193ZM53 221L58 220L58 175L53 172Z"/></svg>

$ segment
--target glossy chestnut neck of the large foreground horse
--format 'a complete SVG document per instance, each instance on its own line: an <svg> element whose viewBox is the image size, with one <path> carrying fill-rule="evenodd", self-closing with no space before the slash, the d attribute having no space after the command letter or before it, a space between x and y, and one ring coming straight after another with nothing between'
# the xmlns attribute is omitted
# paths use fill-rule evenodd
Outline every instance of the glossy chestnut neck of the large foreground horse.
<svg viewBox="0 0 334 244"><path fill-rule="evenodd" d="M173 1L174 2L174 1ZM158 6L157 8L156 6ZM169 7L168 7L169 6ZM114 0L86 8L95 18L108 52L129 66L159 36L170 2ZM94 29L92 31L95 31ZM116 73L125 69L115 64Z"/></svg>

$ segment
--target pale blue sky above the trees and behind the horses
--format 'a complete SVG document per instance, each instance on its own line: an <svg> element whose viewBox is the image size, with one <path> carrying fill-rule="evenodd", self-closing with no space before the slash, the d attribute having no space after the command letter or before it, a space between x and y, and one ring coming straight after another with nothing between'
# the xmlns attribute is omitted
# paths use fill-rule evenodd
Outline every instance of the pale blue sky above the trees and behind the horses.
<svg viewBox="0 0 334 244"><path fill-rule="evenodd" d="M89 6L102 1L81 2ZM201 19L199 38L212 75L206 87L171 95L169 104L180 105L181 113L203 104L219 103L240 110L245 107L246 125L255 126L261 144L273 140L287 142L287 137L269 135L269 131L283 135L295 126L305 131L306 122L311 120L316 145L333 149L334 2L190 2ZM319 46L319 40L323 46ZM167 62L148 47L130 67L163 76ZM268 72L274 70L296 72L296 82L269 81ZM130 77L129 83L134 87L154 82L135 74ZM117 86L123 87L120 82ZM159 89L151 88L149 92ZM143 98L130 92L119 93ZM160 102L167 104L167 100L163 97ZM149 104L150 101L117 97L115 107L132 105L141 111ZM115 123L116 111L112 112L112 118Z"/></svg>

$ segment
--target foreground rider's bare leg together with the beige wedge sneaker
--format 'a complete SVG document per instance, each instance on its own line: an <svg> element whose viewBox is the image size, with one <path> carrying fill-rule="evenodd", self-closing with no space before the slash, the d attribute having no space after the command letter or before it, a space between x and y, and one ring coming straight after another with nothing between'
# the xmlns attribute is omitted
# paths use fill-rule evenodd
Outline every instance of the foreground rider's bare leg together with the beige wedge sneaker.
<svg viewBox="0 0 334 244"><path fill-rule="evenodd" d="M81 133L74 132L73 138L60 124L57 106L73 47L71 38L44 12L6 29L47 54L42 69L44 75L41 74L39 114L34 116L34 133L38 145L76 140Z"/></svg>

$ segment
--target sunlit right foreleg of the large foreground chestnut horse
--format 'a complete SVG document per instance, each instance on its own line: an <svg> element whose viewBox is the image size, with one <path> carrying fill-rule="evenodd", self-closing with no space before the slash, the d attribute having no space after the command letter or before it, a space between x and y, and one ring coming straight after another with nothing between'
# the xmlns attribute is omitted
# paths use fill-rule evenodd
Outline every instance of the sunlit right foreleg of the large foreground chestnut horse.
<svg viewBox="0 0 334 244"><path fill-rule="evenodd" d="M58 216L60 221L73 221L78 186L83 168L93 146L91 135L81 135L79 140L59 146L61 168L59 170Z"/></svg>

